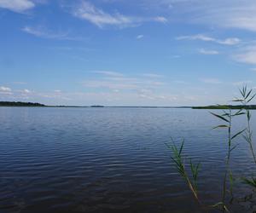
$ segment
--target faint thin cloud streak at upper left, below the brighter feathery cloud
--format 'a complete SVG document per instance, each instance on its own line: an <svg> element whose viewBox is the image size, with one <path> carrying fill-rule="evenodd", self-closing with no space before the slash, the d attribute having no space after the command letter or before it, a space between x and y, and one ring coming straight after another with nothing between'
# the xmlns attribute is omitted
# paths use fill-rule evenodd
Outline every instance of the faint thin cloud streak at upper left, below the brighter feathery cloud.
<svg viewBox="0 0 256 213"><path fill-rule="evenodd" d="M70 37L68 32L52 32L43 26L25 26L21 29L23 32L32 34L36 37L58 39L58 40L80 40L79 37Z"/></svg>

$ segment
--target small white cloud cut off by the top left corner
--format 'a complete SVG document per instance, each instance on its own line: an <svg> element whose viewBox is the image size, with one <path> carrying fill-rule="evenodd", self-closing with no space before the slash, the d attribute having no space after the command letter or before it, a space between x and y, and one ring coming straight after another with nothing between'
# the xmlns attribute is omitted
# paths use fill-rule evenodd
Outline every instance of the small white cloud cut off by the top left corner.
<svg viewBox="0 0 256 213"><path fill-rule="evenodd" d="M35 4L30 0L0 0L0 8L9 9L16 13L23 13L34 7Z"/></svg>

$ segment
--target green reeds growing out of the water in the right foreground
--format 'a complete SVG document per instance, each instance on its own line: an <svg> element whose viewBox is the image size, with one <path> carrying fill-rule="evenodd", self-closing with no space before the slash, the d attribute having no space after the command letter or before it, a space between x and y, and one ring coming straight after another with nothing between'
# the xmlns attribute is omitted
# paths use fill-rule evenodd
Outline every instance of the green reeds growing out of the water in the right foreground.
<svg viewBox="0 0 256 213"><path fill-rule="evenodd" d="M243 87L242 89L240 89L240 93L241 97L234 100L234 102L239 102L241 104L239 108L233 108L232 106L218 106L214 109L224 109L222 110L222 113L217 114L211 112L215 118L218 118L222 122L222 124L219 124L212 129L223 129L227 131L227 138L224 139L224 141L226 141L225 146L227 153L224 159L225 170L223 174L222 191L220 192L221 199L218 200L215 204L207 205L203 204L201 201L200 194L198 193L198 176L200 173L201 164L195 164L194 162L192 162L191 159L188 160L188 157L183 155L184 141L181 142L180 146L177 146L174 141L172 141L172 144L167 145L167 147L169 147L172 151L172 161L175 163L179 175L183 177L183 180L188 185L196 201L201 206L201 209L206 210L207 212L210 210L232 212L233 204L238 204L241 202L249 203L247 204L247 206L249 206L249 210L244 210L242 212L256 212L256 202L253 198L253 196L255 197L256 195L256 177L244 177L241 175L235 177L230 168L232 152L234 149L237 148L237 143L235 143L234 140L239 136L243 141L247 143L248 149L252 154L254 164L256 165L256 157L253 147L253 130L251 128L252 114L250 112L251 107L250 105L248 105L248 103L253 100L256 94L253 95L253 90L247 89L247 87ZM233 120L236 119L236 117L238 116L244 116L247 123L244 129L233 133ZM216 168L218 168L218 165L216 165ZM251 171L251 173L253 174L253 171ZM246 184L248 187L251 188L250 193L244 195L239 193L239 198L237 198L233 193L234 181L239 181L241 184Z"/></svg>

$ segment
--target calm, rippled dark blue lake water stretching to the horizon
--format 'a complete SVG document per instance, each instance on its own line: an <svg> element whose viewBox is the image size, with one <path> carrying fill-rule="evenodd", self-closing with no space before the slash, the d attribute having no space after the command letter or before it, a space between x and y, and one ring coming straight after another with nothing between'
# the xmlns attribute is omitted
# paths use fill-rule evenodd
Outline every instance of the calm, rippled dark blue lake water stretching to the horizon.
<svg viewBox="0 0 256 213"><path fill-rule="evenodd" d="M253 112L253 130L255 121ZM227 134L211 130L221 122L207 110L0 107L0 122L1 213L201 212L172 163L171 137L202 163L203 202L220 199ZM250 175L247 143L237 142L234 175Z"/></svg>

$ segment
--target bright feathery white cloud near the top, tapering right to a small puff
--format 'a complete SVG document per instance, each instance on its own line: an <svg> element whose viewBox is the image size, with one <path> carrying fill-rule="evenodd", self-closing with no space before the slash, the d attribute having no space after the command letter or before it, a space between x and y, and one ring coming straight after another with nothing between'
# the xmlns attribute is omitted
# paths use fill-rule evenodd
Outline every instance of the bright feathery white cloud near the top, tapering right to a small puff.
<svg viewBox="0 0 256 213"><path fill-rule="evenodd" d="M161 23L166 23L166 18L162 16L143 18L136 16L127 16L124 14L109 14L102 9L96 8L90 2L82 1L79 5L73 8L73 15L79 17L82 20L88 20L92 24L103 27L103 26L138 26L145 21L156 21Z"/></svg>

